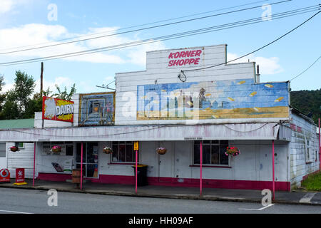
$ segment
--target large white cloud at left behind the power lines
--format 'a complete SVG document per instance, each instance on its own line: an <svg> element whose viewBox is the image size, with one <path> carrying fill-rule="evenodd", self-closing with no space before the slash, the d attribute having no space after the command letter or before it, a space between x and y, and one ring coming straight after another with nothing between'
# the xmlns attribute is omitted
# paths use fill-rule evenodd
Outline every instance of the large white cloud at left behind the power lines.
<svg viewBox="0 0 321 228"><path fill-rule="evenodd" d="M106 34L115 34L117 27L103 27L103 28L88 28L88 33L75 34L68 32L68 29L60 25L45 25L45 24L26 24L16 28L0 29L0 53L19 50L15 48L8 50L8 48L28 46L25 48L36 48L39 46L48 46L59 44L66 41L55 41L63 38L70 38L75 36L85 36L83 38L91 38L93 36L103 36ZM105 31L108 31L105 33ZM93 33L100 33L93 35ZM89 36L88 36L89 35ZM91 36L92 35L92 36ZM78 43L68 43L61 46L51 46L48 48L39 48L29 51L6 53L5 57L9 57L10 61L24 60L29 58L43 58L46 56L57 56L64 53L75 53L86 51L93 48L101 48L106 46L117 46L121 43L129 43L138 41L138 38L127 38L126 36L106 36L103 38L91 39L88 41L81 41ZM49 43L51 42L51 43ZM40 45L34 45L41 43ZM32 45L32 46L31 46ZM120 50L111 50L106 52L98 52L86 54L81 56L73 56L62 58L66 61L83 61L91 63L134 63L143 65L146 63L146 51L151 51L159 48L164 48L163 43L150 43L143 46L136 46L135 48L126 48ZM4 50L6 49L6 50ZM9 62L8 58L1 58L2 63Z"/></svg>

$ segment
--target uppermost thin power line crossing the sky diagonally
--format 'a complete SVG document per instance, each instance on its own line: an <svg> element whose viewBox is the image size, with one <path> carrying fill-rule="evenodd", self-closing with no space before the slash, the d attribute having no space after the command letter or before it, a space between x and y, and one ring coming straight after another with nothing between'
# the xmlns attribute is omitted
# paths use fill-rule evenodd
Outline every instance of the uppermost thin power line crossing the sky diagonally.
<svg viewBox="0 0 321 228"><path fill-rule="evenodd" d="M151 23L140 24L140 25L136 25L136 26L128 26L128 27L126 27L126 28L112 29L112 30L108 30L108 31L102 31L102 32L99 32L99 33L92 33L92 34L83 35L83 36L74 36L74 37L71 37L71 38L63 38L63 39L59 39L59 40L56 40L56 41L49 41L49 42L44 42L44 43L34 43L34 44L31 44L31 45L26 45L26 46L18 46L18 47L12 47L12 48L5 48L5 49L1 49L0 51L12 50L12 49L16 49L16 48L25 48L25 47L30 47L30 46L37 46L37 45L41 45L41 44L54 43L54 42L59 42L59 41L67 41L67 40L72 40L72 39L74 39L74 38L81 38L81 37L87 37L87 36L95 36L95 35L103 34L103 33L107 33L107 32L121 31L121 30L126 30L126 29L128 29L128 28L137 28L137 27L141 27L141 26L147 26L147 25L149 25L149 24L158 24L158 23L161 23L161 22L173 21L173 20L177 20L177 19L183 19L183 18L187 18L187 17L190 17L190 16L197 16L197 15L202 15L202 14L209 14L209 13L213 13L213 12L215 12L215 11L223 11L223 10L225 10L225 9L234 9L234 8L238 8L238 7L240 7L240 6L248 6L248 5L257 4L257 3L260 3L260 2L264 2L264 1L270 1L270 0L255 1L255 2L250 2L250 3L248 3L248 4L242 4L242 5L238 5L238 6L230 6L230 7L225 7L225 8L222 8L222 9L215 9L215 10L213 10L213 11L206 11L206 12L202 12L202 13L198 13L198 14L190 14L190 15L186 15L186 16L180 16L180 17L176 17L176 18L173 18L173 19L165 19L165 20L161 20L161 21L154 21L154 22L151 22ZM289 0L289 1L292 1L292 0Z"/></svg>

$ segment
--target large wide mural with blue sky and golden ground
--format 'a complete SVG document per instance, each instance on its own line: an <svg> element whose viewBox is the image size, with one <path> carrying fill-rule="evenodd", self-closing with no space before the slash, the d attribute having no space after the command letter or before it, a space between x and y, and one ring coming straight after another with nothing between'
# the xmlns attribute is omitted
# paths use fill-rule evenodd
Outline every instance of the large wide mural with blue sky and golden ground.
<svg viewBox="0 0 321 228"><path fill-rule="evenodd" d="M137 88L137 120L288 117L288 83L240 79Z"/></svg>

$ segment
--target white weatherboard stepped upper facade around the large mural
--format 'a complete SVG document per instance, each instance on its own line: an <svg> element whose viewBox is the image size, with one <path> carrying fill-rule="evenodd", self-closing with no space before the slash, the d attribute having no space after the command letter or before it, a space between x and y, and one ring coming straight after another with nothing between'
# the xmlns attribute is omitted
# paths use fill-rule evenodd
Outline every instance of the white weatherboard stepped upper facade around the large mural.
<svg viewBox="0 0 321 228"><path fill-rule="evenodd" d="M201 49L200 65L188 67L168 67L168 53ZM180 48L162 51L150 51L146 56L146 71L116 73L116 113L115 125L133 124L172 124L186 123L185 120L136 120L137 86L182 83L178 78L180 70L203 68L226 62L226 45ZM208 82L235 79L255 80L255 63L223 64L202 71L185 72L186 82ZM257 121L257 120L256 120ZM213 123L213 120L198 120L198 123ZM217 123L222 122L217 120ZM224 121L223 121L224 122ZM226 120L225 120L226 122ZM231 122L231 121L230 121ZM235 122L234 122L235 123ZM192 123L193 124L193 123Z"/></svg>

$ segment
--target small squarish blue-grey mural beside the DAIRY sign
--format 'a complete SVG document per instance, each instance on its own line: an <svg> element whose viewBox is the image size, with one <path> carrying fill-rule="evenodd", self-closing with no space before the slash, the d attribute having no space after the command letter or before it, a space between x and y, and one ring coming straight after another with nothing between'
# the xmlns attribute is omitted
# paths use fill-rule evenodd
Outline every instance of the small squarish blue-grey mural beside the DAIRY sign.
<svg viewBox="0 0 321 228"><path fill-rule="evenodd" d="M79 94L79 126L113 125L115 93Z"/></svg>

